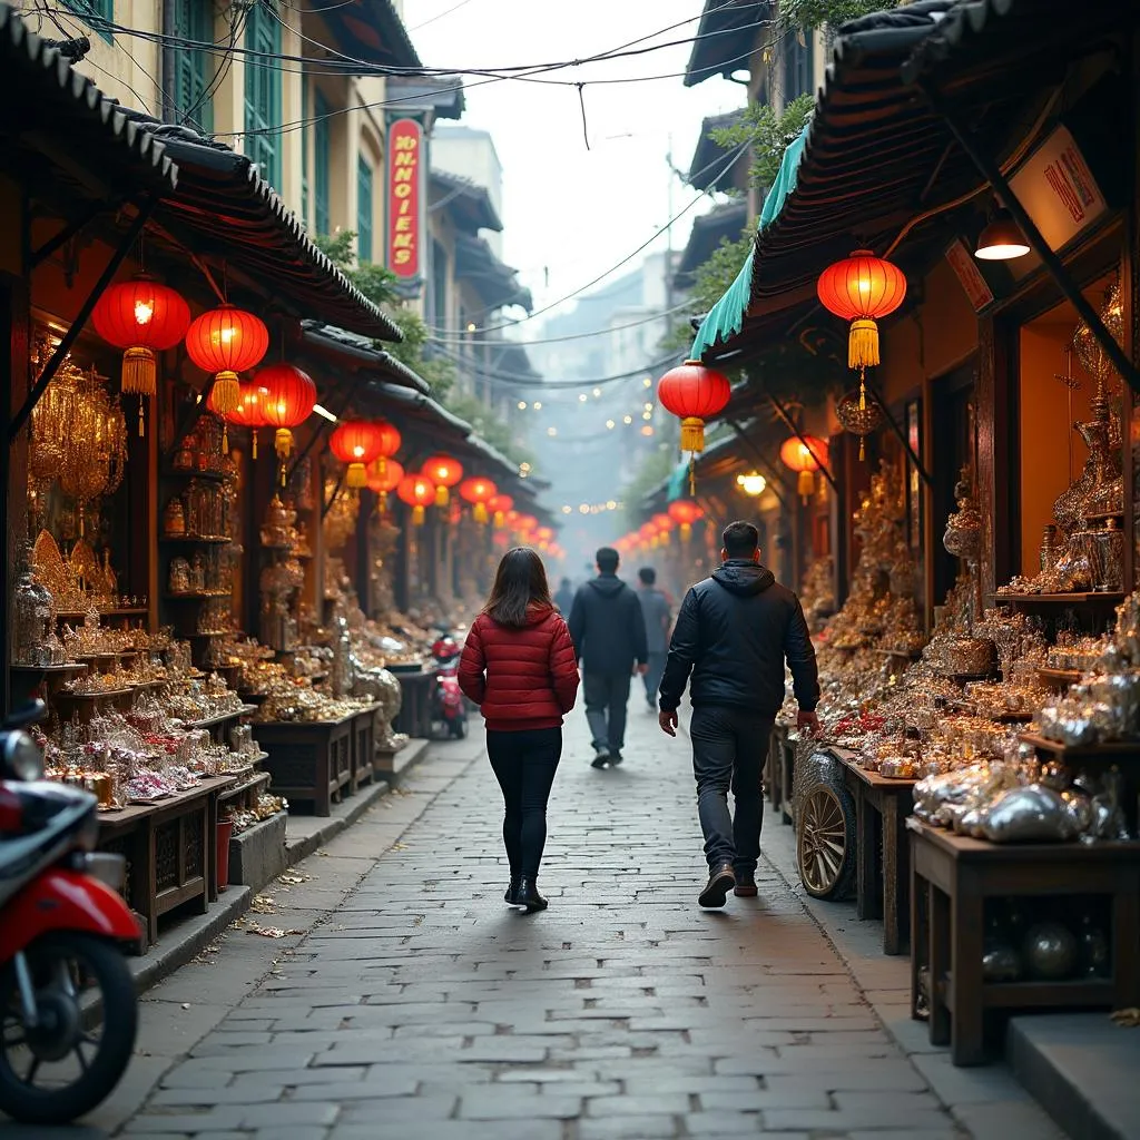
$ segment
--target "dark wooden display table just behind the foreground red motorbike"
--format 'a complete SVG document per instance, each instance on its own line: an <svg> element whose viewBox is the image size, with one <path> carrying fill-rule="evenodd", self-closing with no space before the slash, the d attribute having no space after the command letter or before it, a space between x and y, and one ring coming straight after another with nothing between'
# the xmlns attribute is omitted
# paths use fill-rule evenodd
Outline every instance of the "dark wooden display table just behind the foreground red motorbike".
<svg viewBox="0 0 1140 1140"><path fill-rule="evenodd" d="M99 849L127 858L123 896L144 926L144 947L158 938L163 914L218 898L218 799L234 776L203 780L154 804L99 815Z"/></svg>

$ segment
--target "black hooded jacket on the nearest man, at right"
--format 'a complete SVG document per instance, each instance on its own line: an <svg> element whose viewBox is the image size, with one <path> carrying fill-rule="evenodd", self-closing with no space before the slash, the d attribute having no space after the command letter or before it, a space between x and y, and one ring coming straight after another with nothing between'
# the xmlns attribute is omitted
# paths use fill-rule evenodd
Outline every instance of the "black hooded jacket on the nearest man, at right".
<svg viewBox="0 0 1140 1140"><path fill-rule="evenodd" d="M728 705L775 717L784 660L805 712L820 700L815 650L799 598L756 562L731 559L685 595L661 679L661 708L681 705L692 674L693 706Z"/></svg>

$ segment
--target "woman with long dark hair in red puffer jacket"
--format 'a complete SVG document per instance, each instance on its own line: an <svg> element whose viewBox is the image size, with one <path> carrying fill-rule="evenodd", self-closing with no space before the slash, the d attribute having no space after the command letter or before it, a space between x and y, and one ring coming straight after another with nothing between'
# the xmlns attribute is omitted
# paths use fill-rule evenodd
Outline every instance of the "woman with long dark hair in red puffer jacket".
<svg viewBox="0 0 1140 1140"><path fill-rule="evenodd" d="M578 666L543 560L529 547L503 555L490 597L467 633L459 685L487 722L487 755L503 789L511 866L504 897L528 914L544 911L538 869L546 804L562 757L562 717L578 695Z"/></svg>

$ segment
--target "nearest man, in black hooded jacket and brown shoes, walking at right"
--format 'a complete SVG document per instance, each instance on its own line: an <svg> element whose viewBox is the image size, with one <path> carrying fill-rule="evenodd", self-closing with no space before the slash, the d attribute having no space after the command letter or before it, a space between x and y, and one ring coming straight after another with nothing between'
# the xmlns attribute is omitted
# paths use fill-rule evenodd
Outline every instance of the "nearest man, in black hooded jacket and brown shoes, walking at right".
<svg viewBox="0 0 1140 1140"><path fill-rule="evenodd" d="M798 726L816 732L820 676L799 598L759 564L750 522L725 528L723 564L685 595L661 681L661 728L677 734L677 706L690 700L697 805L709 881L701 906L724 906L730 890L756 895L760 855L760 777L772 723L791 669ZM728 788L736 801L728 813Z"/></svg>

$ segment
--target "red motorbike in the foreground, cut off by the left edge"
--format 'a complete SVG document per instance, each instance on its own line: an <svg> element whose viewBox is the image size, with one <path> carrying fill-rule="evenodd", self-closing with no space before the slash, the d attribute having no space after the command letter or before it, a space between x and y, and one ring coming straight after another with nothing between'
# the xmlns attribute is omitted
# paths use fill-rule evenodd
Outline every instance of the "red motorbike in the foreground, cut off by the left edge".
<svg viewBox="0 0 1140 1140"><path fill-rule="evenodd" d="M125 860L95 852L98 800L42 779L25 730L43 711L0 726L0 1113L40 1125L90 1112L125 1072L138 1003L122 945L139 937Z"/></svg>

